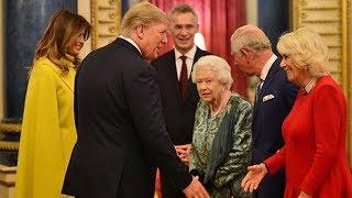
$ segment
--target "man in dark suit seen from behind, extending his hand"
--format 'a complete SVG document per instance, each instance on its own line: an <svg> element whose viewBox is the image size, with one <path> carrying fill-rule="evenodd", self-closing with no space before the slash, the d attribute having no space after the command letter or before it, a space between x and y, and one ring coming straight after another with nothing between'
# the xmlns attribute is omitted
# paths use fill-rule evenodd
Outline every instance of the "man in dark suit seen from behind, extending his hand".
<svg viewBox="0 0 352 198"><path fill-rule="evenodd" d="M160 167L187 196L209 197L177 157L165 130L156 72L144 61L157 57L167 25L163 11L138 3L123 16L121 35L82 62L75 88L78 140L64 194L151 198Z"/></svg>

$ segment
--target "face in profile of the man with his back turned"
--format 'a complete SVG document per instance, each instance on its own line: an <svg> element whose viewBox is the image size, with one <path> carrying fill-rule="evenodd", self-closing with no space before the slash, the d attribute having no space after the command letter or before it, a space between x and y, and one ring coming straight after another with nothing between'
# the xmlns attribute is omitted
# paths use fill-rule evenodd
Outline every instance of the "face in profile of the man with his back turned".
<svg viewBox="0 0 352 198"><path fill-rule="evenodd" d="M152 23L143 29L143 38L145 41L141 52L144 58L153 61L157 58L163 45L167 42L167 24L163 22Z"/></svg>

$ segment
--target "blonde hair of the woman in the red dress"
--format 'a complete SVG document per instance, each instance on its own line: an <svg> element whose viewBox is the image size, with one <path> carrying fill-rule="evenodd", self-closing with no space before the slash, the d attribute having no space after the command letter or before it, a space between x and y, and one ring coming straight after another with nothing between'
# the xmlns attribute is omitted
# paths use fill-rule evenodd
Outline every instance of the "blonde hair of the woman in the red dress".
<svg viewBox="0 0 352 198"><path fill-rule="evenodd" d="M322 37L312 29L300 28L279 37L277 51L292 58L299 69L308 69L314 77L329 74L326 67L328 46Z"/></svg>

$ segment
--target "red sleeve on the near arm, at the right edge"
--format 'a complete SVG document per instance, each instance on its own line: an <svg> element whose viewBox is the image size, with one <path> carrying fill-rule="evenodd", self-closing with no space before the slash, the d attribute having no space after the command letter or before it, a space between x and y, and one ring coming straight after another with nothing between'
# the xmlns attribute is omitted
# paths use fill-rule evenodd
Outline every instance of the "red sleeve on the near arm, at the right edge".
<svg viewBox="0 0 352 198"><path fill-rule="evenodd" d="M334 163L343 114L341 111L343 98L336 87L327 85L317 90L312 107L316 153L312 165L300 185L300 189L306 194L315 195Z"/></svg>

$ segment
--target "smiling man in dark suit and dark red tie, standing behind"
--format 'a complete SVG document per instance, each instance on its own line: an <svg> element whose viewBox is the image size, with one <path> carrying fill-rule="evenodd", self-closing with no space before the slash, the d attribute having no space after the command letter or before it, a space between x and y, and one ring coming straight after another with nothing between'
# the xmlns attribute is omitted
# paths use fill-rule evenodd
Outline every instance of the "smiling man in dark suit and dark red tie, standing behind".
<svg viewBox="0 0 352 198"><path fill-rule="evenodd" d="M166 131L178 156L188 165L195 111L199 100L190 74L194 63L210 53L195 45L194 38L199 25L193 8L179 4L172 9L169 18L175 48L153 61L152 65L157 70ZM169 177L165 174L161 176L163 197L184 197L180 190L175 189Z"/></svg>

